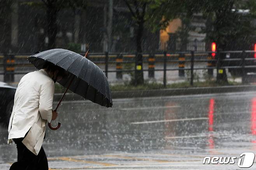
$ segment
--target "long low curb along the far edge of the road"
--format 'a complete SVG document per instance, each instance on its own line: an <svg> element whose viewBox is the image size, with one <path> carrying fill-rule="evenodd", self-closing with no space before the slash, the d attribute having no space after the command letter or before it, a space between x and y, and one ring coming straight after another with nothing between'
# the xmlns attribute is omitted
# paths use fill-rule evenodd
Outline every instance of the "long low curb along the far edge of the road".
<svg viewBox="0 0 256 170"><path fill-rule="evenodd" d="M212 93L227 93L227 92L247 92L247 91L256 91L256 85L113 91L112 99L171 96L171 95L212 94ZM54 94L54 101L59 101L61 96L62 94L60 93ZM84 98L77 94L67 93L63 100L77 101L77 100L84 100Z"/></svg>

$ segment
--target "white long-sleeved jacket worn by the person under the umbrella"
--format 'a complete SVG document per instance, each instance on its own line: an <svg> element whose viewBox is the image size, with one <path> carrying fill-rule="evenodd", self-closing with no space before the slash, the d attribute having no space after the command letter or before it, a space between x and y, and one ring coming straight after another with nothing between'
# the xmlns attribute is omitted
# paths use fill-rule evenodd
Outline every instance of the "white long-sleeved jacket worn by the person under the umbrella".
<svg viewBox="0 0 256 170"><path fill-rule="evenodd" d="M8 144L12 139L24 137L23 144L38 154L45 134L45 125L51 122L54 82L44 69L23 76L14 96L9 122Z"/></svg>

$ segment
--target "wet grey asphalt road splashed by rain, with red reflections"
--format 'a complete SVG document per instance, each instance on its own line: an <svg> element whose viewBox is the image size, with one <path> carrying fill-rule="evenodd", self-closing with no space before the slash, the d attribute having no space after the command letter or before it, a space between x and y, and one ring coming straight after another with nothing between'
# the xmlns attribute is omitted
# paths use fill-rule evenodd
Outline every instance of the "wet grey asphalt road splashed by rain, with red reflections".
<svg viewBox="0 0 256 170"><path fill-rule="evenodd" d="M114 99L113 108L65 101L43 147L51 169L240 169L205 156L256 153L256 92ZM54 103L56 105L56 103ZM0 169L16 160L0 127ZM255 161L255 160L254 160ZM256 163L249 168L255 169Z"/></svg>

